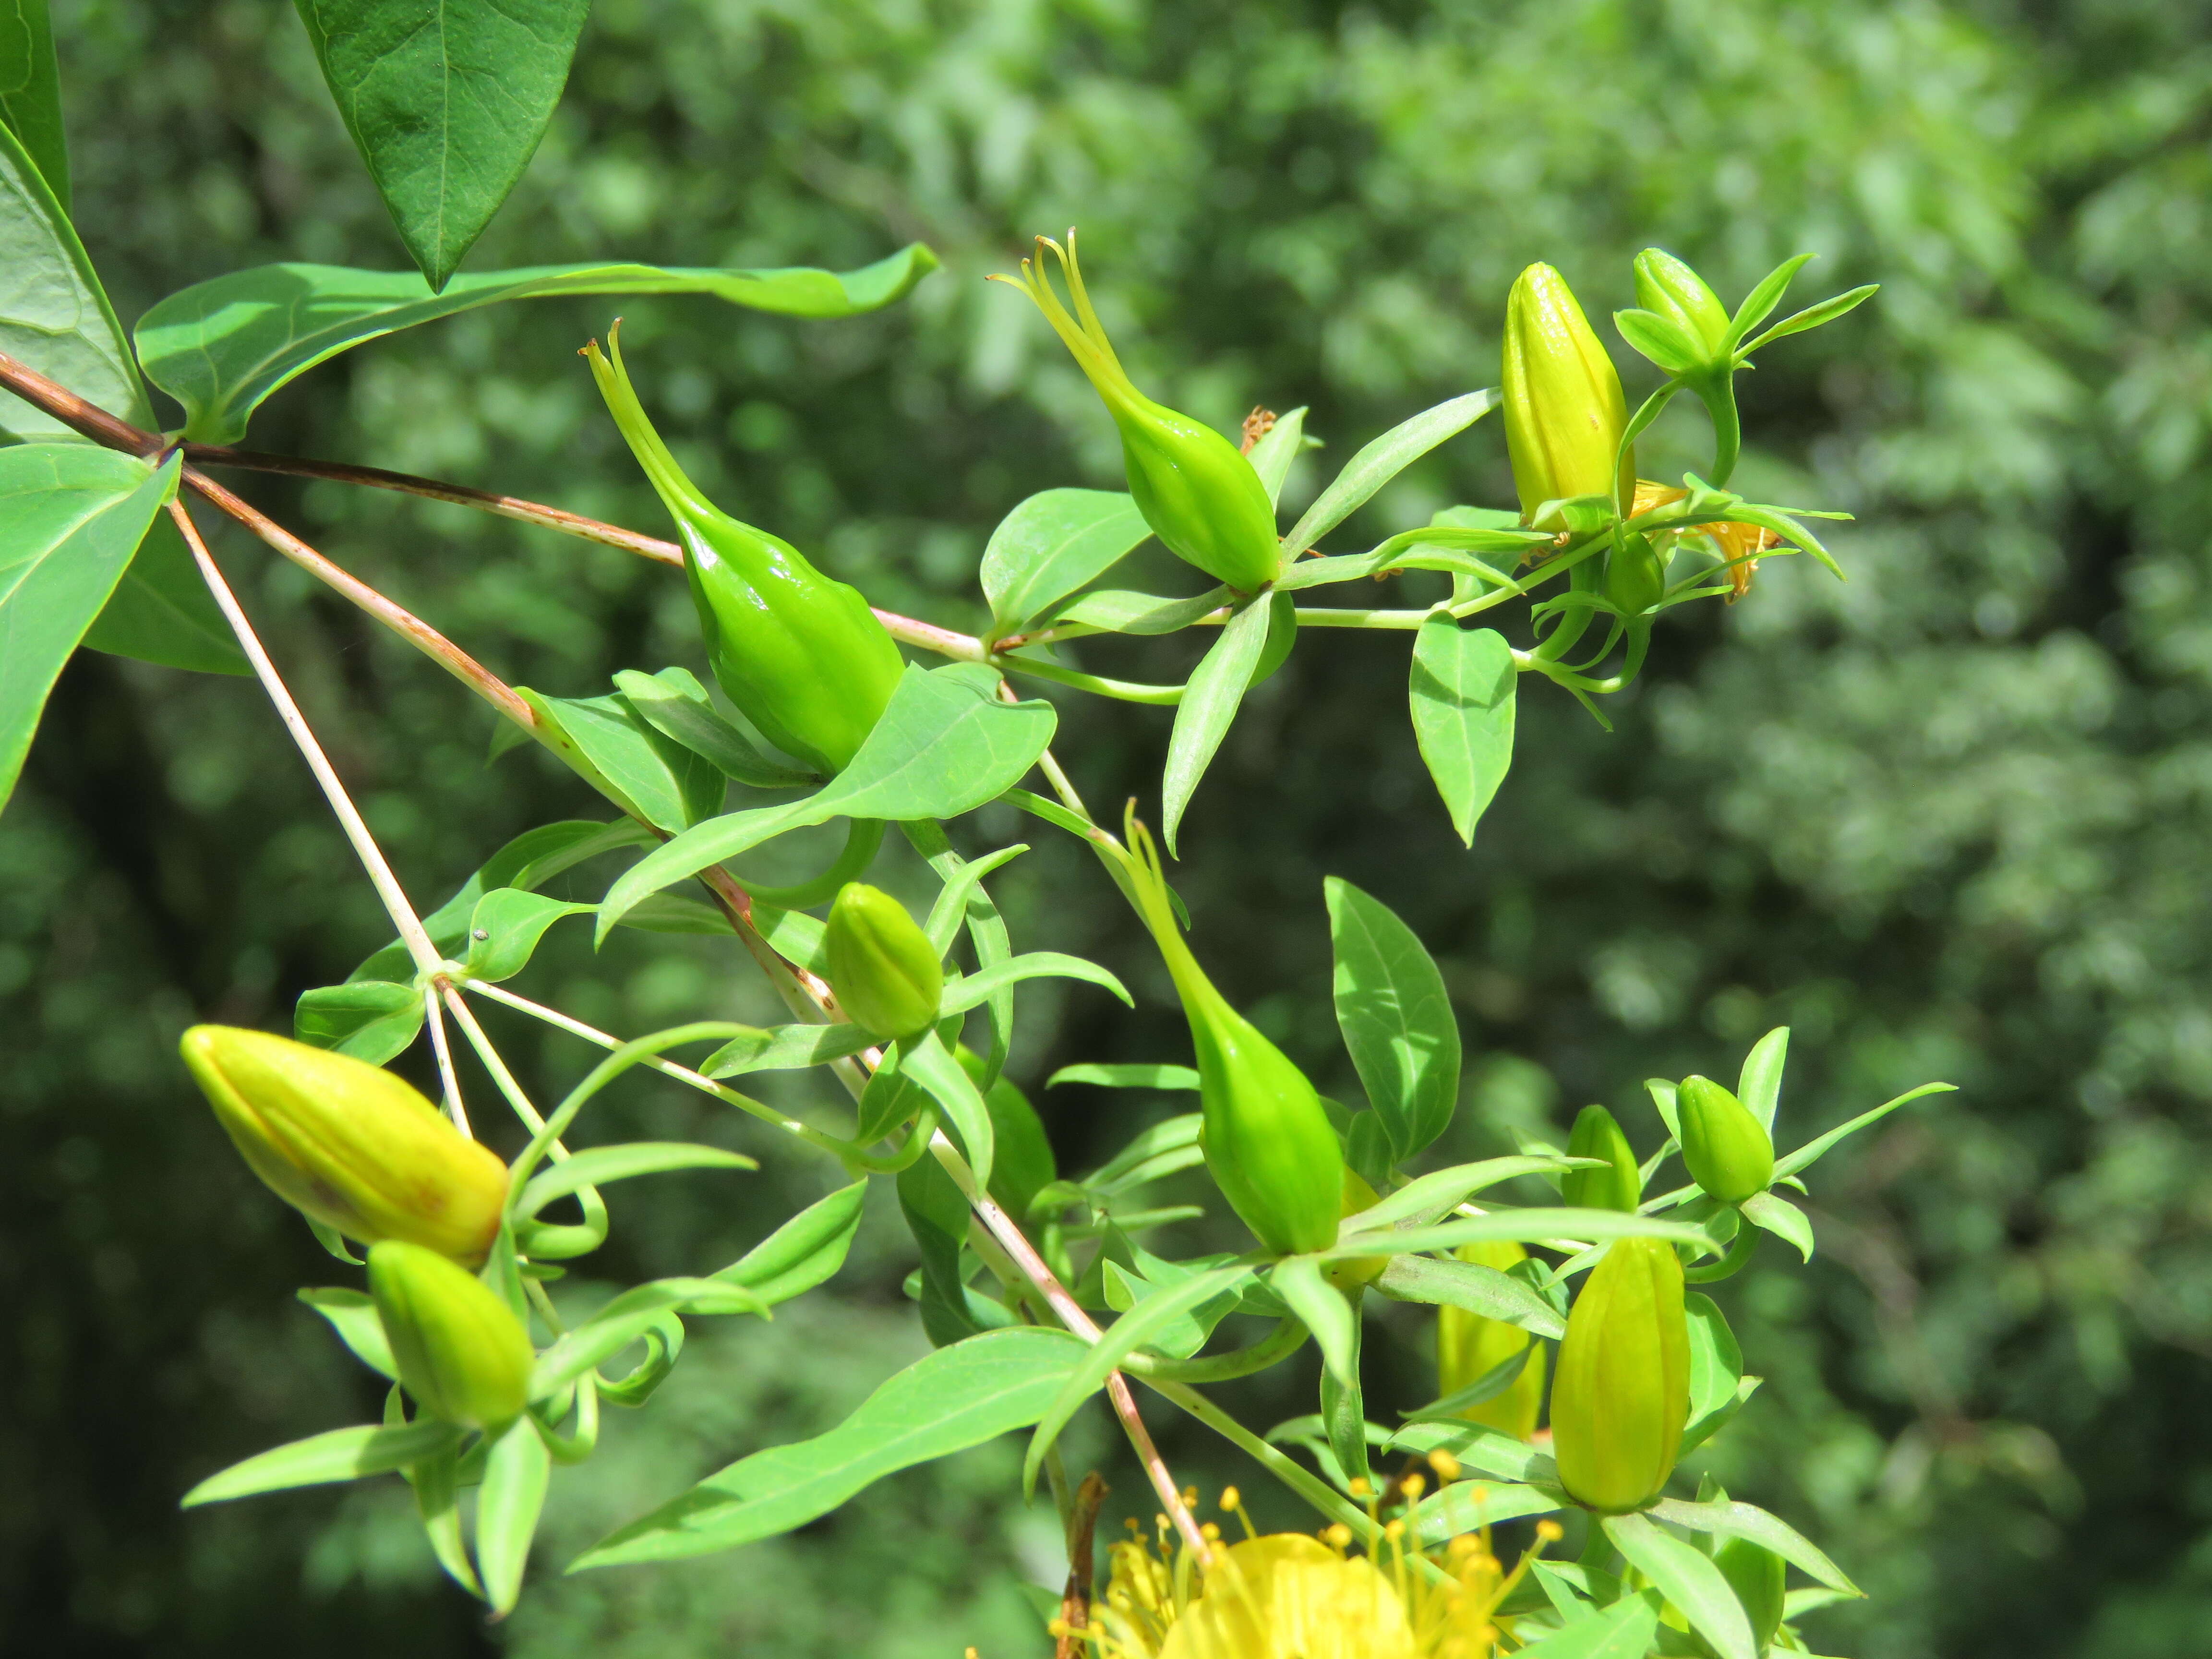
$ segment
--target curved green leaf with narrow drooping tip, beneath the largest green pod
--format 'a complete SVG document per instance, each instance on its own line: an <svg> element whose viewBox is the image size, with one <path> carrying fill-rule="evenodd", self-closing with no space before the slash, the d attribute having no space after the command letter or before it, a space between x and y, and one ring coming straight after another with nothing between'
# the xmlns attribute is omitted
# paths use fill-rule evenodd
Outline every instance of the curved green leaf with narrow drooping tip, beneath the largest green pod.
<svg viewBox="0 0 2212 1659"><path fill-rule="evenodd" d="M599 940L630 905L770 836L830 818L956 818L1004 794L1053 741L1044 701L998 701L998 672L982 664L907 666L889 708L852 765L783 807L732 812L686 830L639 858L606 891Z"/></svg>

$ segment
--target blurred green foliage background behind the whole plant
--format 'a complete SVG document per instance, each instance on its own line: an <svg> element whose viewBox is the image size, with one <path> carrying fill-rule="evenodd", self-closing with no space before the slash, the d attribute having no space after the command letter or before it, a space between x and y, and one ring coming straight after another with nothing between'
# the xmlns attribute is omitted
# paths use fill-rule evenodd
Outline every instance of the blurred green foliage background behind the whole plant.
<svg viewBox="0 0 2212 1659"><path fill-rule="evenodd" d="M405 263L283 0L55 0L55 31L77 219L126 319L237 265ZM1033 232L1082 226L1155 396L1223 427L1312 405L1321 465L1489 385L1533 259L1599 319L1655 241L1728 299L1798 250L1820 254L1805 296L1882 283L1745 380L1739 480L1858 513L1832 542L1847 584L1778 560L1750 602L1677 613L1610 734L1531 686L1471 854L1407 734L1402 635L1310 637L1230 737L1177 880L1221 984L1336 1091L1356 1084L1321 876L1398 907L1464 1013L1458 1150L1588 1099L1650 1148L1641 1077L1730 1075L1776 1022L1796 1029L1785 1141L1960 1084L1818 1170L1809 1270L1770 1245L1728 1287L1770 1380L1701 1464L1871 1590L1816 1617L1816 1650L2183 1659L2212 1630L2208 135L2212 24L2157 0L599 0L469 270L849 268L927 239L947 270L891 314L655 299L626 305L624 341L712 493L956 626L980 619L975 562L1013 502L1117 478L1064 352L980 281ZM509 305L365 347L281 394L254 440L659 529L573 356L608 314ZM1641 396L1648 365L1617 356ZM1679 476L1703 445L1679 405L1641 471ZM657 566L460 509L252 491L509 679L588 695L615 668L699 666ZM1334 546L1506 500L1486 422ZM487 768L489 714L341 602L237 535L217 551L418 898L533 823L595 814L535 754ZM1192 650L1084 664L1181 677ZM1060 752L1095 805L1157 799L1164 743L1159 710L1064 701ZM1137 1015L1026 995L1013 1075L1181 1060L1095 865L1035 823L962 836L1037 843L995 880L1015 938L1097 953L1141 993ZM0 1648L1042 1652L1013 1586L1057 1575L1055 1526L1018 1506L1011 1447L737 1555L557 1577L922 1349L887 1206L832 1292L703 1332L650 1413L608 1425L557 1482L504 1630L438 1582L396 1482L175 1511L215 1467L376 1409L290 1301L345 1270L237 1164L175 1037L288 1029L301 989L385 933L250 684L69 668L0 818ZM555 936L520 989L619 1031L768 1013L708 940L622 936L593 960ZM586 1064L498 1029L540 1088ZM1175 1108L1037 1095L1066 1166ZM628 1188L593 1265L611 1279L719 1265L832 1179L672 1086L633 1086L604 1124L765 1159ZM1402 1312L1371 1338L1376 1416L1433 1394ZM1265 1425L1310 1409L1305 1387L1225 1394ZM1303 1524L1250 1467L1159 1429L1188 1480L1241 1480ZM1104 1460L1113 1517L1148 1511L1102 1425L1071 1451Z"/></svg>

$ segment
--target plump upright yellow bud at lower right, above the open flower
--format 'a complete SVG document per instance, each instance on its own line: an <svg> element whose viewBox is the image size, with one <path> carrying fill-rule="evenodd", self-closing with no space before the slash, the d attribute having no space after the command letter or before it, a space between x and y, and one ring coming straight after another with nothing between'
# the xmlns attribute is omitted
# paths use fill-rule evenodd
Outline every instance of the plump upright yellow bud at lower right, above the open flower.
<svg viewBox="0 0 2212 1659"><path fill-rule="evenodd" d="M1674 1245L1617 1239L1566 1316L1551 1385L1559 1484L1621 1515L1666 1489L1690 1418L1690 1327Z"/></svg>

